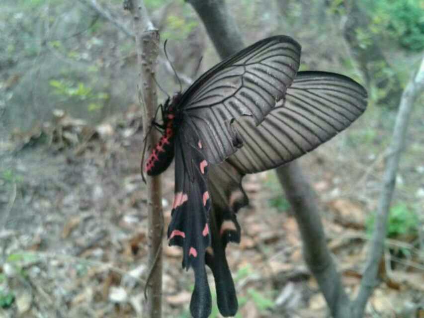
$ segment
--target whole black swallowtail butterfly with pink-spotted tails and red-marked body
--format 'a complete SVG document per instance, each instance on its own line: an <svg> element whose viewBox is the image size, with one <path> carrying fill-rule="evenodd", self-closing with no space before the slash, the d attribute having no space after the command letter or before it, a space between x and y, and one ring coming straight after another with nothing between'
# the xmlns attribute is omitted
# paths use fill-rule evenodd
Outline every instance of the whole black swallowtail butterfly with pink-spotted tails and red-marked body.
<svg viewBox="0 0 424 318"><path fill-rule="evenodd" d="M225 247L240 241L235 213L248 202L243 175L302 156L365 110L363 87L341 75L300 72L292 84L299 57L300 46L289 37L261 40L216 65L162 108L164 124L156 125L164 136L146 170L163 172L175 154L168 237L171 245L183 247L183 267L195 272L193 317L208 317L211 311L205 261L215 278L221 314L237 312ZM227 157L220 165L210 164Z"/></svg>

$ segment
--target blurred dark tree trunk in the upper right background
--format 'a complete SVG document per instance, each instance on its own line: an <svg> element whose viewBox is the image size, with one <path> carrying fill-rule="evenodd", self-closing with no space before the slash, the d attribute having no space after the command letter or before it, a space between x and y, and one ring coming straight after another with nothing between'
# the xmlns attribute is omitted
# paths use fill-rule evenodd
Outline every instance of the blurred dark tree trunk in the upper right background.
<svg viewBox="0 0 424 318"><path fill-rule="evenodd" d="M343 36L367 86L374 84L379 89L378 104L397 107L402 86L396 75L389 76L386 72L391 66L378 45L378 39L369 30L369 17L356 0L346 1L345 8L347 19Z"/></svg>

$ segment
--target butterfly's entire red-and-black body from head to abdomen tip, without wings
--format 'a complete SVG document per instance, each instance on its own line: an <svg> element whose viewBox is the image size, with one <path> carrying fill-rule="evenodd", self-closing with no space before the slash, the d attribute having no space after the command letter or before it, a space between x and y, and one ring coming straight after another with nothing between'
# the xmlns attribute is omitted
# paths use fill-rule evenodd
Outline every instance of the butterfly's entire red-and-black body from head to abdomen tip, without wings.
<svg viewBox="0 0 424 318"><path fill-rule="evenodd" d="M163 105L162 118L164 124L162 126L164 132L147 160L146 172L148 175L154 176L164 172L172 162L174 157L174 136L181 117L176 107L180 96L181 93L174 94L172 100L168 98Z"/></svg>

